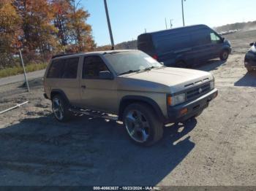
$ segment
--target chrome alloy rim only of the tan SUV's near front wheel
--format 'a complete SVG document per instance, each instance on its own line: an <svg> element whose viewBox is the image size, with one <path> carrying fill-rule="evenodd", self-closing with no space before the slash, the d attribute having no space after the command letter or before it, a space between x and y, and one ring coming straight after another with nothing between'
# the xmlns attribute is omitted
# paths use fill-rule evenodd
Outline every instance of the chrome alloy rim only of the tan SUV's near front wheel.
<svg viewBox="0 0 256 191"><path fill-rule="evenodd" d="M144 143L148 140L149 123L146 117L138 110L131 110L127 113L125 127L133 140L139 143Z"/></svg>

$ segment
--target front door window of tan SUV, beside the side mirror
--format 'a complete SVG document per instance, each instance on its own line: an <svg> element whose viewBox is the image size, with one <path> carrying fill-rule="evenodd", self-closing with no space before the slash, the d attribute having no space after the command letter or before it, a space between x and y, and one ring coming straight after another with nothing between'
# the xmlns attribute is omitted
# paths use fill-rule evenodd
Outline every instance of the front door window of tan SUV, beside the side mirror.
<svg viewBox="0 0 256 191"><path fill-rule="evenodd" d="M109 71L102 58L88 56L83 61L83 79L99 79L99 71Z"/></svg>

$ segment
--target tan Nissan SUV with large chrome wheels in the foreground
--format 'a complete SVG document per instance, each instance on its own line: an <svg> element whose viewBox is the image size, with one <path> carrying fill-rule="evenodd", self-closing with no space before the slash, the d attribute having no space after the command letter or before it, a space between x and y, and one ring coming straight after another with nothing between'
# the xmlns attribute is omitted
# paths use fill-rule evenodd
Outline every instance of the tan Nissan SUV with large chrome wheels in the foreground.
<svg viewBox="0 0 256 191"><path fill-rule="evenodd" d="M218 93L210 73L167 68L138 50L53 57L44 85L60 122L74 113L120 120L147 146L162 138L165 124L197 117Z"/></svg>

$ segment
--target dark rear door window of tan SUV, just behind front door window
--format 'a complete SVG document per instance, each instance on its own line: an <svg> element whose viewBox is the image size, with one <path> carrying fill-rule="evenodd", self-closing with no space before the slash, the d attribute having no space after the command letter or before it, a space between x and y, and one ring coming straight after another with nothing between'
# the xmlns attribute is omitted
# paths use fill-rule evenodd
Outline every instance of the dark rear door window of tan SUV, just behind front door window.
<svg viewBox="0 0 256 191"><path fill-rule="evenodd" d="M79 58L65 59L65 68L62 78L75 79L78 75L78 61Z"/></svg>

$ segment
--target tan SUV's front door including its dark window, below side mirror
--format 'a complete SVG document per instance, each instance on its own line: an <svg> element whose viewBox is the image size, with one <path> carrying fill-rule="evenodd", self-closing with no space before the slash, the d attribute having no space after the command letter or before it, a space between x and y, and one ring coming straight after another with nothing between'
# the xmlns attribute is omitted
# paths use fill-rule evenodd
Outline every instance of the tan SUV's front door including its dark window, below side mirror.
<svg viewBox="0 0 256 191"><path fill-rule="evenodd" d="M99 55L86 56L80 80L80 105L86 109L117 112L116 80L99 79L100 71L110 71Z"/></svg>

